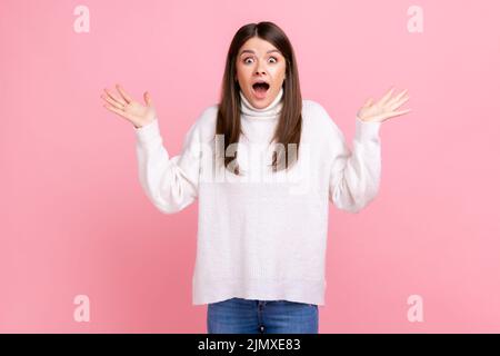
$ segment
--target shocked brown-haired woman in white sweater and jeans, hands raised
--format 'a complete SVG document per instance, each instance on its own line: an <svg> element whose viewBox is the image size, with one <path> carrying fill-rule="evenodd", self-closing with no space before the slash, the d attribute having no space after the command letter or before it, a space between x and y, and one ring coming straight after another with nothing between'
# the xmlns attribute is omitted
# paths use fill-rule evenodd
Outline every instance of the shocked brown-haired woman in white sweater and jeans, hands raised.
<svg viewBox="0 0 500 356"><path fill-rule="evenodd" d="M220 102L170 157L149 92L141 105L117 89L104 106L136 128L151 202L172 214L199 198L192 298L208 304L208 332L318 333L329 201L357 212L376 197L380 125L410 111L398 111L407 90L359 109L351 151L324 108L302 99L284 32L250 23L230 44Z"/></svg>

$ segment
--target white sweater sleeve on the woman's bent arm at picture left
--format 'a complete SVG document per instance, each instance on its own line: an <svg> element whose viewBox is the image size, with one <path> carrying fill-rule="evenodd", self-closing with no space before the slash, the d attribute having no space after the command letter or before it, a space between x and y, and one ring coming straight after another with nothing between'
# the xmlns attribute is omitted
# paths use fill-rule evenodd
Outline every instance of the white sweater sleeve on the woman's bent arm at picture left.
<svg viewBox="0 0 500 356"><path fill-rule="evenodd" d="M188 207L198 197L201 151L198 123L184 137L181 154L170 157L163 147L158 118L136 129L139 181L149 200L164 214Z"/></svg>

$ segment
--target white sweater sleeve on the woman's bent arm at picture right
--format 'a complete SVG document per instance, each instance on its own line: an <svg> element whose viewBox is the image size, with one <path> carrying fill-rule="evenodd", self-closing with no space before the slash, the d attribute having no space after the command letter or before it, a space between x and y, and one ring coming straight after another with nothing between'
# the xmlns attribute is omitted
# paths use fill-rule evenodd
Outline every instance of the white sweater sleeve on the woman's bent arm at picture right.
<svg viewBox="0 0 500 356"><path fill-rule="evenodd" d="M327 113L328 117L328 113ZM329 117L328 117L329 118ZM352 151L344 136L332 122L334 137L329 179L329 199L340 210L359 212L379 191L381 176L380 126L356 117Z"/></svg>

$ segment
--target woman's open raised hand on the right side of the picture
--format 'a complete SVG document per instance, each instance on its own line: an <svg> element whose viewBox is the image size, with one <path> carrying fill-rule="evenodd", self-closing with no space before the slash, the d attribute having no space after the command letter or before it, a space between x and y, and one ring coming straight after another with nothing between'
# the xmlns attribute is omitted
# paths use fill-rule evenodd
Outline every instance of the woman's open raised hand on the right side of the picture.
<svg viewBox="0 0 500 356"><path fill-rule="evenodd" d="M411 111L411 109L397 111L404 102L410 99L407 89L401 91L398 96L391 97L394 88L391 88L379 101L373 102L370 98L367 102L359 109L358 118L367 122L382 122L396 116L401 116Z"/></svg>

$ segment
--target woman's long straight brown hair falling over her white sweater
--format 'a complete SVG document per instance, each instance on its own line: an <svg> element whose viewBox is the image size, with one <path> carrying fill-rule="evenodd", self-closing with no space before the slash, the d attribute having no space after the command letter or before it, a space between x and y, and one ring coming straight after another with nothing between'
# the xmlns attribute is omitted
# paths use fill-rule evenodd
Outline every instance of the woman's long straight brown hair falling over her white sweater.
<svg viewBox="0 0 500 356"><path fill-rule="evenodd" d="M284 151L280 150L279 154L277 154L276 150L273 151L271 164L273 171L280 170L277 168L278 161L279 167L284 167L286 169L297 161L302 130L302 96L300 92L297 60L290 40L273 22L263 21L241 27L234 34L228 50L216 128L216 135L218 137L223 135L222 137L224 138L224 147L223 149L222 147L219 149L223 155L224 167L226 169L229 169L228 166L231 164L231 160L234 159L232 169L236 175L240 175L240 168L237 165L238 151L234 152L234 158L227 157L224 152L229 145L238 145L241 134L241 98L239 95L240 86L236 80L236 61L240 48L252 37L258 37L272 43L281 51L286 59L286 79L283 81L282 97L283 107L271 139L271 141L274 140L276 142L282 144L281 147L284 147ZM297 152L297 155L293 157L290 157L291 155L289 155L289 145L294 146L294 152ZM278 155L280 156L279 158Z"/></svg>

